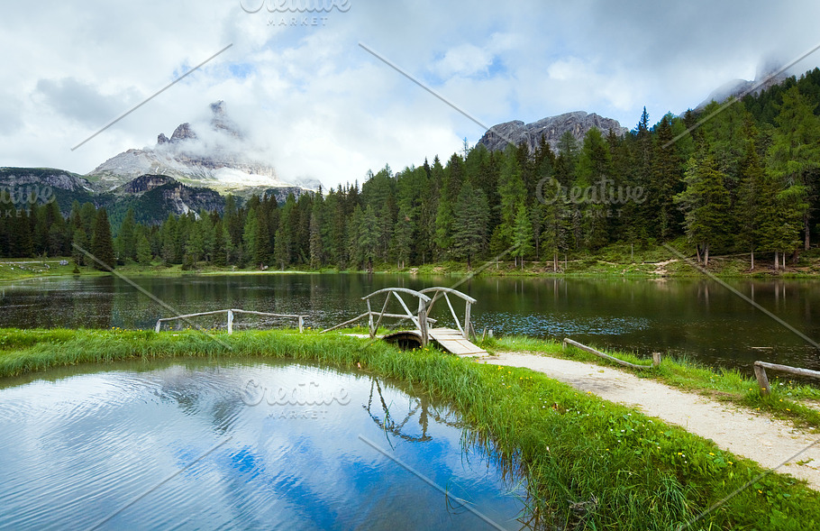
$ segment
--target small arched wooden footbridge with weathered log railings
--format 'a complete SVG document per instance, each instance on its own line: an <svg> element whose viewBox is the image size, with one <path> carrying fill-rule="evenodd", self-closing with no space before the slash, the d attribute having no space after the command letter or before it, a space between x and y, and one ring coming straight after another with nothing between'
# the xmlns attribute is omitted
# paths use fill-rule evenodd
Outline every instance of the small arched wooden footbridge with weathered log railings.
<svg viewBox="0 0 820 531"><path fill-rule="evenodd" d="M410 307L413 305L411 304L408 306L402 298L402 295L418 299L418 305L415 312L410 310ZM385 297L385 300L381 307L381 311L373 311L371 301L380 300L382 296ZM456 311L452 306L450 296L461 298L465 302L463 317L464 325L461 325L459 316L456 315ZM436 327L435 325L438 321L430 318L430 312L433 310L433 305L436 301L442 298L447 302L447 306L450 308L450 313L453 321L455 322L456 328ZM384 288L374 291L367 297L362 297L361 299L368 305L367 312L361 314L360 316L354 317L349 321L345 321L344 323L323 330L322 333L330 332L331 330L335 330L337 328L342 328L342 326L352 325L353 323L367 317L370 338L372 339L376 337L378 326L381 325L382 320L387 317L390 319L409 320L413 323L413 325L415 325L414 330L401 330L383 336L382 339L387 342L397 343L403 347L407 347L425 346L427 343L433 341L447 352L452 352L453 354L459 356L480 356L487 354L485 350L469 341L470 334L473 336L476 335L476 331L470 323L469 314L470 307L476 304L477 301L475 298L471 298L469 295L465 295L460 291L452 288L438 287L426 288L420 291L415 291L415 289L408 288ZM394 302L397 301L405 313L388 313L387 307L389 306L391 300Z"/></svg>

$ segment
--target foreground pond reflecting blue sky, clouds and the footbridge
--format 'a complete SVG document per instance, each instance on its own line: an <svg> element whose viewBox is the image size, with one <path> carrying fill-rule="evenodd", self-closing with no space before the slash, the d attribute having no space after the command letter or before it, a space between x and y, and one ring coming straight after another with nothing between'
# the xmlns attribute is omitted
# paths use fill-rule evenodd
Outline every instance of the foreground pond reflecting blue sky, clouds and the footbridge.
<svg viewBox="0 0 820 531"><path fill-rule="evenodd" d="M0 528L521 527L510 465L424 394L287 362L114 367L0 384Z"/></svg>

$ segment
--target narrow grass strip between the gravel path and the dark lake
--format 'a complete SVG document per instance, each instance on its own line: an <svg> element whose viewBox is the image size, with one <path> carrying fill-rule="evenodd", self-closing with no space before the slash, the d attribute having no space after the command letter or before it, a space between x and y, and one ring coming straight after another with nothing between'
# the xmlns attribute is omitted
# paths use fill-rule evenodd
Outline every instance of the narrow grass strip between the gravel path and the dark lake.
<svg viewBox="0 0 820 531"><path fill-rule="evenodd" d="M556 358L617 367L622 371L633 372L641 378L659 380L688 392L731 402L738 406L751 407L769 413L773 417L787 419L796 426L808 427L815 432L820 431L820 411L806 405L820 406L820 388L796 383L793 380L771 378L775 376L774 374L769 375L771 394L764 397L761 395L757 380L743 375L740 371L706 367L685 358L676 359L667 356L662 359L659 367L651 367L651 360L639 358L632 353L597 349L624 362L651 367L646 370L633 370L571 346L563 349L561 343L542 341L532 337L511 335L487 339L483 346L490 352L537 352ZM595 345L590 346L597 348Z"/></svg>

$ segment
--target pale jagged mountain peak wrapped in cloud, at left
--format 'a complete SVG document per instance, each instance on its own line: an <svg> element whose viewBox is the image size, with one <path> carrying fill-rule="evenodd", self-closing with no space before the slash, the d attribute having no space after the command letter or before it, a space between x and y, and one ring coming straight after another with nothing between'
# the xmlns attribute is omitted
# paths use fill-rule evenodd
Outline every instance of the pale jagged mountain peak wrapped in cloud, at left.
<svg viewBox="0 0 820 531"><path fill-rule="evenodd" d="M87 174L100 190L114 190L143 175L165 175L194 187L248 196L253 190L300 188L313 190L318 181L287 182L252 151L240 127L228 116L224 102L211 105L208 124L180 124L171 137L159 133L156 145L128 150Z"/></svg>

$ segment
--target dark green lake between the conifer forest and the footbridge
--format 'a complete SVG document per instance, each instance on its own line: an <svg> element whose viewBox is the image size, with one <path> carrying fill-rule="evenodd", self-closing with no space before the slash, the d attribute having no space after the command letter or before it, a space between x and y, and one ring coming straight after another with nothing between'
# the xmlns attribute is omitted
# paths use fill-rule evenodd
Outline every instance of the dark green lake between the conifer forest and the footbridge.
<svg viewBox="0 0 820 531"><path fill-rule="evenodd" d="M268 274L134 281L183 314L235 307L307 314L307 325L325 327L364 312L360 298L376 289L451 286L458 279ZM795 330L820 341L820 281L743 279L729 284ZM571 337L644 355L687 354L709 365L747 372L754 360L820 370L820 352L814 346L713 280L479 278L469 279L459 289L478 299L472 312L479 333L487 327L497 334ZM434 317L448 319L446 305L439 304L435 310ZM169 309L114 277L0 284L0 326L152 328L159 317L171 315ZM223 319L204 318L197 323L224 326ZM241 316L236 325L257 324Z"/></svg>

